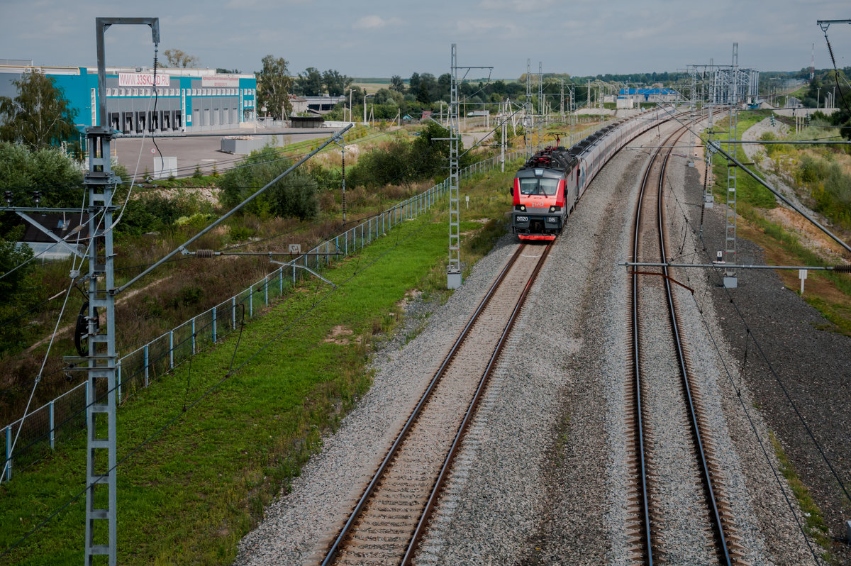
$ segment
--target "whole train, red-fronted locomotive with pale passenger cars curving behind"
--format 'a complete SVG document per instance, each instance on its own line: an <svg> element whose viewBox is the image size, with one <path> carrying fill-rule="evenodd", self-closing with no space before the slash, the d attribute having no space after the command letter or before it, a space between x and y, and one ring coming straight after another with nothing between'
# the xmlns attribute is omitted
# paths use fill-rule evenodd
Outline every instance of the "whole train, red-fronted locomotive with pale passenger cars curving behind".
<svg viewBox="0 0 851 566"><path fill-rule="evenodd" d="M546 147L517 171L511 231L521 240L555 240L594 176L621 147L671 117L658 108L624 118L570 147Z"/></svg>

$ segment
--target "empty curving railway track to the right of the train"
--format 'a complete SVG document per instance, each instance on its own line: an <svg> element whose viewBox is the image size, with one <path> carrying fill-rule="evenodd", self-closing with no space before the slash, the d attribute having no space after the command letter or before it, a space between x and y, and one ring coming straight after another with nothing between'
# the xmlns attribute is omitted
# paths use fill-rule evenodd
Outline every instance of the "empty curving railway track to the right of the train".
<svg viewBox="0 0 851 566"><path fill-rule="evenodd" d="M660 258L665 262L668 249L665 223L665 169L671 157L672 146L685 133L679 129L656 150L645 170L639 192L632 241L632 260ZM673 282L673 283L672 283ZM694 495L698 501L694 509L692 545L711 546L705 552L706 560L720 564L742 564L744 548L725 496L722 471L714 455L711 431L708 430L700 403L700 386L692 379L683 328L677 312L677 296L672 284L677 284L665 268L634 268L631 272L631 379L626 388L631 414L628 431L631 437L630 526L633 557L647 564L683 563L677 549L666 543L665 529L671 528L670 506L666 498L672 489ZM663 312L666 313L663 314ZM660 340L662 333L670 340ZM664 342L664 343L660 343ZM667 401L660 402L660 398ZM679 397L681 402L672 401ZM667 403L667 404L664 404ZM660 411L657 414L654 411ZM666 423L662 423L666 420ZM678 422L681 440L654 434L663 424ZM671 461L671 445L690 448L693 458L680 477L694 480L694 486L677 483L665 477L677 477L668 470L683 466ZM686 450L689 451L688 449ZM680 469L678 468L678 469ZM688 495L687 495L688 496ZM680 525L681 530L683 525Z"/></svg>

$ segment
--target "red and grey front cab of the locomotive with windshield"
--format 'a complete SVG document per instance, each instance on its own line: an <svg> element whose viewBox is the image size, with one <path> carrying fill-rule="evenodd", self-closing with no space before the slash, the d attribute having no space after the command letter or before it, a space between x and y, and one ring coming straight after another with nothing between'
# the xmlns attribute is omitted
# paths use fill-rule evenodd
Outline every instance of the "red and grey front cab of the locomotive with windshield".
<svg viewBox="0 0 851 566"><path fill-rule="evenodd" d="M551 169L517 172L511 228L522 240L554 240L564 220L564 176Z"/></svg>

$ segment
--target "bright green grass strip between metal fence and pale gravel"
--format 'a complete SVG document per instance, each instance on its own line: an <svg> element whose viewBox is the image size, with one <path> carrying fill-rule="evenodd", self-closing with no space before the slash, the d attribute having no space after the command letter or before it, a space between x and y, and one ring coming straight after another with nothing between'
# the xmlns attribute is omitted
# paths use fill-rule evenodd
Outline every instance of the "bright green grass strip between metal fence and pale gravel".
<svg viewBox="0 0 851 566"><path fill-rule="evenodd" d="M461 232L469 233L462 251L467 269L504 233L512 174L506 169L462 188L477 217L492 219L484 226L461 223ZM462 216L468 214L462 210ZM445 292L445 222L444 207L403 223L326 272L340 285L335 291L306 283L247 323L238 347L237 334L230 334L124 404L118 411L118 457L128 457L118 467L119 563L231 562L264 506L368 389L370 346L397 322L398 301L408 289ZM339 327L351 331L342 334L347 343L327 341ZM226 378L231 359L233 367L245 365ZM84 463L84 441L77 437L0 487L0 549L82 489ZM79 563L83 507L84 498L72 502L2 562Z"/></svg>

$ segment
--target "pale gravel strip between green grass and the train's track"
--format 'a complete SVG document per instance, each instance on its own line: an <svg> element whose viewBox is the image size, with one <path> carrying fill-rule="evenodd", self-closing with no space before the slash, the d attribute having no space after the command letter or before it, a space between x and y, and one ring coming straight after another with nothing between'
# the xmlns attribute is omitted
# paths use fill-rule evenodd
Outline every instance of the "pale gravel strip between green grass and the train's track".
<svg viewBox="0 0 851 566"><path fill-rule="evenodd" d="M289 493L266 507L263 522L240 541L235 564L305 563L323 539L336 534L514 249L505 238L443 306L414 300L405 328L374 354L369 391L340 429L324 439L322 452L311 458Z"/></svg>

